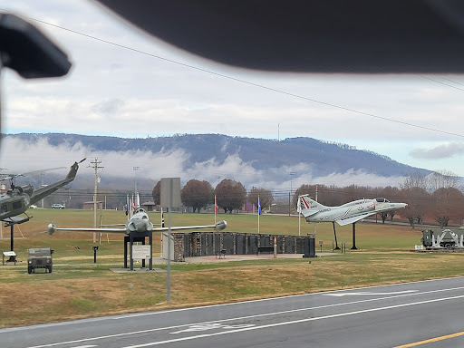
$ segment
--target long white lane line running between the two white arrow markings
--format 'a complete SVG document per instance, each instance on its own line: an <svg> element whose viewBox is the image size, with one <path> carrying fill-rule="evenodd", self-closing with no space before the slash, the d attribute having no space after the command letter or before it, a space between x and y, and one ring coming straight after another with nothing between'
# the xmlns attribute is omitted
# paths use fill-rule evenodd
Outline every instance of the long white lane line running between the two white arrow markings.
<svg viewBox="0 0 464 348"><path fill-rule="evenodd" d="M411 295L436 294L436 293L442 293L442 292L446 292L446 291L463 290L463 289L464 289L464 286L459 286L459 287L451 287L449 289L438 289L438 290L424 291L424 292L421 292L419 294L417 294L417 293L408 293L408 294L401 294L401 295L392 295L392 296L385 296L385 297L370 298L370 299L367 299L367 300L357 300L357 301L351 301L351 302L344 302L344 303L339 303L339 304L324 304L324 305L319 305L319 306L314 306L314 307L297 308L297 309L291 309L291 310L279 311L279 312L272 312L272 313L265 313L265 314L253 314L253 315L247 315L247 316L239 316L239 317L235 317L235 318L221 319L221 320L215 320L215 321L210 321L210 322L180 324L180 325L158 327L158 328L155 328L155 329L132 331L132 332L129 332L129 333L108 334L108 335L104 335L104 336L82 338L80 340L73 340L73 341L67 341L67 342L61 342L61 343L49 343L49 344L42 344L42 345L34 345L34 346L27 347L27 348L54 347L54 346L63 345L63 344L98 341L98 340L103 340L103 339L106 339L106 338L128 336L128 335L138 334L138 333L153 333L153 332L162 331L162 330L172 330L172 329L178 329L178 328L181 328L181 327L191 326L193 324L199 325L199 324L225 323L225 322L232 322L232 321L237 321L237 320L252 319L252 318L257 318L257 317L272 316L272 315L278 315L278 314L296 313L296 312L303 312L303 311L311 311L311 310L314 310L314 309L324 309L324 308L330 308L330 307L341 306L341 305L363 304L363 303L388 300L388 299L398 298L398 297L407 297L407 296L411 296ZM324 294L324 295L326 295L326 294ZM209 307L209 306L207 306L207 307Z"/></svg>

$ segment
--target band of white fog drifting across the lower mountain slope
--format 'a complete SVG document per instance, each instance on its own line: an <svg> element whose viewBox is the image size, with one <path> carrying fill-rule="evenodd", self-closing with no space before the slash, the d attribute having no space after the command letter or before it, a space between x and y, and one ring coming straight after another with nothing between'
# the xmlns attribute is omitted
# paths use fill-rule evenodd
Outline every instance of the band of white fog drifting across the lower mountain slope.
<svg viewBox="0 0 464 348"><path fill-rule="evenodd" d="M252 186L264 189L275 189L278 192L297 189L303 184L324 184L338 187L359 186L396 186L402 178L379 177L363 170L348 170L345 173L332 173L326 177L314 177L311 164L300 163L295 166L284 166L266 170L255 169L252 163L244 162L237 154L230 155L222 163L216 159L196 162L187 167L189 154L186 150L160 150L160 152L128 150L128 151L94 151L77 143L73 146L63 144L52 146L47 140L23 141L12 137L2 140L0 167L8 172L23 173L40 169L69 167L75 160L83 158L80 176L93 175L91 160L102 160L103 169L99 171L102 179L117 177L127 179L131 187L135 176L140 179L157 181L164 177L179 177L183 183L189 179L207 180L213 187L222 179L240 181L247 189ZM135 172L134 167L140 169ZM289 172L295 176L290 178ZM90 184L92 186L92 182ZM92 187L81 188L92 189Z"/></svg>

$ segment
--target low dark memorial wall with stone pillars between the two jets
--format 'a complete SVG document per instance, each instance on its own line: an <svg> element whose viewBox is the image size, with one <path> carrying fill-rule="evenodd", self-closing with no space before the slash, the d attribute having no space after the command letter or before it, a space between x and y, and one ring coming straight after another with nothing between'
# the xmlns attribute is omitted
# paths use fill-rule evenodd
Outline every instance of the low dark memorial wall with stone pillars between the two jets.
<svg viewBox="0 0 464 348"><path fill-rule="evenodd" d="M226 255L256 255L258 247L274 247L274 238L277 254L304 254L304 240L308 237L238 232L176 232L172 233L171 257L174 261L182 261L189 256L215 256L221 250L225 250ZM164 258L168 258L167 239L164 233Z"/></svg>

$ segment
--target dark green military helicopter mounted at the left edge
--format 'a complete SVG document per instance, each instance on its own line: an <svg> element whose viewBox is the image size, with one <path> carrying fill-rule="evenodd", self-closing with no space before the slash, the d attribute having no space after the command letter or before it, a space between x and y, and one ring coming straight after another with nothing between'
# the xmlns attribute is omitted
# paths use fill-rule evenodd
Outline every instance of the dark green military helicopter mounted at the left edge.
<svg viewBox="0 0 464 348"><path fill-rule="evenodd" d="M34 189L34 186L30 184L16 186L15 178L18 176L24 176L25 174L6 176L3 178L3 180L10 181L10 189L8 189L6 193L0 195L0 220L5 221L8 224L21 223L29 220L29 217L18 218L17 216L20 214L25 214L25 211L35 202L38 202L42 198L52 194L57 189L63 188L64 185L73 181L77 174L77 169L79 169L79 164L84 160L86 159L83 159L79 162L74 162L73 166L71 166L71 169L68 172L68 175L63 180L54 182L53 184L47 185L40 189ZM43 170L36 170L34 172L27 173L27 175L36 172L43 172Z"/></svg>

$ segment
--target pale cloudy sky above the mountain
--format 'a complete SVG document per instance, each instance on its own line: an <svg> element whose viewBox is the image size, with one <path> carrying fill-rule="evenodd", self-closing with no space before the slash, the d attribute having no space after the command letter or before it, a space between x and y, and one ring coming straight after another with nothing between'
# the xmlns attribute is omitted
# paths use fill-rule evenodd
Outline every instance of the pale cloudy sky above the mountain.
<svg viewBox="0 0 464 348"><path fill-rule="evenodd" d="M58 79L2 70L3 133L311 137L464 176L464 76L256 72L183 52L92 1L0 0L0 12L27 18L73 63ZM24 151L0 153L4 166Z"/></svg>

